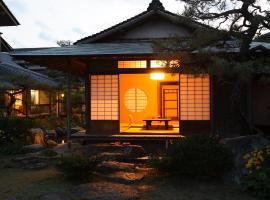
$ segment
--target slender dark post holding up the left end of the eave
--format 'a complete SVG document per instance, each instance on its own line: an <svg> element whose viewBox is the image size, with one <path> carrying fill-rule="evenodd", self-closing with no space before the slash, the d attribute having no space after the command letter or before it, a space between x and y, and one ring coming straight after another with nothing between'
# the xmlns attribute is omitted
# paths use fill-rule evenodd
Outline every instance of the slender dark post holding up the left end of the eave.
<svg viewBox="0 0 270 200"><path fill-rule="evenodd" d="M72 117L72 110L71 110L71 76L70 72L67 73L67 140L68 140L68 147L71 147L70 138L71 138L71 117Z"/></svg>

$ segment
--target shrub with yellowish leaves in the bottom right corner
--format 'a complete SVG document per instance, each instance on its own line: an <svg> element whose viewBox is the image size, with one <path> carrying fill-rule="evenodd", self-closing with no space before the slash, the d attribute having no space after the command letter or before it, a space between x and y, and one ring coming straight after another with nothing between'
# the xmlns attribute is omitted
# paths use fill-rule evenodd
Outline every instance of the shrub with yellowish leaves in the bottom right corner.
<svg viewBox="0 0 270 200"><path fill-rule="evenodd" d="M243 175L241 185L260 198L270 199L270 146L255 149L244 159L247 174Z"/></svg>

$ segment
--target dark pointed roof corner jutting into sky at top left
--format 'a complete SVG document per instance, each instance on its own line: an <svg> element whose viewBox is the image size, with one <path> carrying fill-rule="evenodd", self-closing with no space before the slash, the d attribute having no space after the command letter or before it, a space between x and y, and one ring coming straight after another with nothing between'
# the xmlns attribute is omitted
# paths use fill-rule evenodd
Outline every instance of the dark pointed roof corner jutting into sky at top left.
<svg viewBox="0 0 270 200"><path fill-rule="evenodd" d="M4 14L4 17L1 16L2 20L0 20L0 26L18 26L20 25L20 23L18 22L18 20L16 19L16 17L12 14L12 12L9 10L9 8L7 7L7 5L4 3L3 0L0 0L0 14L1 11Z"/></svg>

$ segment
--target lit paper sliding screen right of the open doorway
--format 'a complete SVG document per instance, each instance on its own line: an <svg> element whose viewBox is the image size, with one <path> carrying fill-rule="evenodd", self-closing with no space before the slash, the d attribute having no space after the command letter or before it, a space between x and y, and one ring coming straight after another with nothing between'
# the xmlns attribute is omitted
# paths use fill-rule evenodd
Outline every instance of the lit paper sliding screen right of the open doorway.
<svg viewBox="0 0 270 200"><path fill-rule="evenodd" d="M180 75L181 120L210 120L208 75Z"/></svg>

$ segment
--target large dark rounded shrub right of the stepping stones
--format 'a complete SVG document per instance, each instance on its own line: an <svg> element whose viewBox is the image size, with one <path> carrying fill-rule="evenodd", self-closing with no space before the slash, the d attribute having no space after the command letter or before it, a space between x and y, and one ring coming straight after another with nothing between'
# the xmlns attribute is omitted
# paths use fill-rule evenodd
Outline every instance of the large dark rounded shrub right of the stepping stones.
<svg viewBox="0 0 270 200"><path fill-rule="evenodd" d="M162 159L153 163L180 176L216 179L233 168L233 154L217 138L199 135L175 142Z"/></svg>

